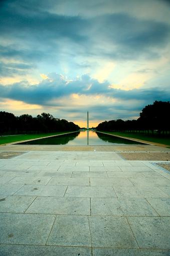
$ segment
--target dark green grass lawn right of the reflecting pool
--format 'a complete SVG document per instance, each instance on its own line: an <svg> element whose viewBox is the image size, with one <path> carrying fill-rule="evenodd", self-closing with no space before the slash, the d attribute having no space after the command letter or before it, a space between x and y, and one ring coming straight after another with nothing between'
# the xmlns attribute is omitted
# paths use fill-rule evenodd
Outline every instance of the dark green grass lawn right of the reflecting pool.
<svg viewBox="0 0 170 256"><path fill-rule="evenodd" d="M103 132L104 133L104 132ZM127 132L106 132L108 134L123 136L123 137L129 137L133 139L139 139L143 141L153 142L153 143L160 143L164 144L170 147L170 138L169 137L160 137L159 135L144 135L141 133L127 133Z"/></svg>

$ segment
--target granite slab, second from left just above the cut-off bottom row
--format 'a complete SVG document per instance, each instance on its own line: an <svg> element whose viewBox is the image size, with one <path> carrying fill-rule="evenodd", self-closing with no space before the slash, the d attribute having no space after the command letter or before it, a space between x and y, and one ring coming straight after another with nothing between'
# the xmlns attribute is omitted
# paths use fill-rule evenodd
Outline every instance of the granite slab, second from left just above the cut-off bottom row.
<svg viewBox="0 0 170 256"><path fill-rule="evenodd" d="M88 217L57 215L47 245L91 246Z"/></svg>

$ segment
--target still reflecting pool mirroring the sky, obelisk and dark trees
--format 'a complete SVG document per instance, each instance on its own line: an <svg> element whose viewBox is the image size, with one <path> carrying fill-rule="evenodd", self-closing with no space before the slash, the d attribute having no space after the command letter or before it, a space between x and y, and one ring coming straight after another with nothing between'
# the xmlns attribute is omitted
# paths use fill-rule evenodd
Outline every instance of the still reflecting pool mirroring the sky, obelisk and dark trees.
<svg viewBox="0 0 170 256"><path fill-rule="evenodd" d="M95 131L75 132L67 135L49 137L19 144L27 145L127 145L142 144Z"/></svg>

